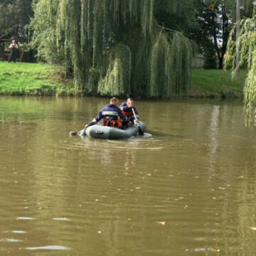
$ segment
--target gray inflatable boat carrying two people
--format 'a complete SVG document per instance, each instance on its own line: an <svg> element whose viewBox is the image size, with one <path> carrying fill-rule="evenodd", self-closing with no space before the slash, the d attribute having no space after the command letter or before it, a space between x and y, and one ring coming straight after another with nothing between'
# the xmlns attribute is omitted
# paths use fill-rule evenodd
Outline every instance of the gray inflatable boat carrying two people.
<svg viewBox="0 0 256 256"><path fill-rule="evenodd" d="M95 124L87 127L87 129L82 129L82 131L80 131L78 134L80 136L87 135L88 137L97 139L127 139L129 137L137 136L139 134L139 129L142 132L146 131L146 125L144 122L133 124L127 129L105 127L99 124Z"/></svg>

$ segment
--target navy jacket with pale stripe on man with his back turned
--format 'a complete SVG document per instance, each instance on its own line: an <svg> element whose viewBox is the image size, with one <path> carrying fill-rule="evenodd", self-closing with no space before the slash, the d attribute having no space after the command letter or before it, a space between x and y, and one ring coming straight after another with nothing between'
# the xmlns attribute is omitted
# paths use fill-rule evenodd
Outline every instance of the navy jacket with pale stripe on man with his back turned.
<svg viewBox="0 0 256 256"><path fill-rule="evenodd" d="M117 126L119 127L118 120L121 119L120 120L121 122L125 122L127 120L127 117L125 117L124 114L122 114L122 112L119 109L119 107L117 107L114 104L109 104L106 107L103 107L102 110L100 110L100 112L97 115L97 117L95 117L95 119L93 119L92 122L90 122L88 124L88 126L96 124L101 119L104 119L103 120L103 124L104 125L107 125L108 122L111 123L112 121L116 121L117 122Z"/></svg>

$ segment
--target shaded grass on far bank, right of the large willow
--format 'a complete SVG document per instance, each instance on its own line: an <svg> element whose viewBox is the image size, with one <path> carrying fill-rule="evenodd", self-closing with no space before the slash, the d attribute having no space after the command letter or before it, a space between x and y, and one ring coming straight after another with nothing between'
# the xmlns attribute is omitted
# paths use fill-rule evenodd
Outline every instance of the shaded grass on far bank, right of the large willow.
<svg viewBox="0 0 256 256"><path fill-rule="evenodd" d="M239 77L233 80L230 71L195 69L189 96L242 97L245 77L245 70L240 70Z"/></svg>

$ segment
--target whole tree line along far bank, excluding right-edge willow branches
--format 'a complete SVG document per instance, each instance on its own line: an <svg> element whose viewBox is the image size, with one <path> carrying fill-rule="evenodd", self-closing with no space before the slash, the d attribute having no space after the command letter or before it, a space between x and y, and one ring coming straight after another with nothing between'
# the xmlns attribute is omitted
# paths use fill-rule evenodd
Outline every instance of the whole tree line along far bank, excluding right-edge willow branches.
<svg viewBox="0 0 256 256"><path fill-rule="evenodd" d="M252 17L252 0L240 16ZM193 54L223 68L234 0L3 0L0 39L31 41L61 65L78 94L186 95Z"/></svg>

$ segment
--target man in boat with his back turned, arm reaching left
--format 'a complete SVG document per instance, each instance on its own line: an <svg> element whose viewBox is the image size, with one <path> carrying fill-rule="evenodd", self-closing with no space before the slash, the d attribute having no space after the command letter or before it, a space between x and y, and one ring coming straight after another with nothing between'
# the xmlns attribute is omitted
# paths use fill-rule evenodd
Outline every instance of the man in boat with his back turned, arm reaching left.
<svg viewBox="0 0 256 256"><path fill-rule="evenodd" d="M95 117L95 119L93 119L89 124L86 124L85 128L90 127L103 119L104 126L118 127L121 129L122 124L127 122L127 117L122 114L122 111L117 107L118 103L119 100L116 97L112 97L110 104L103 107L97 117Z"/></svg>

